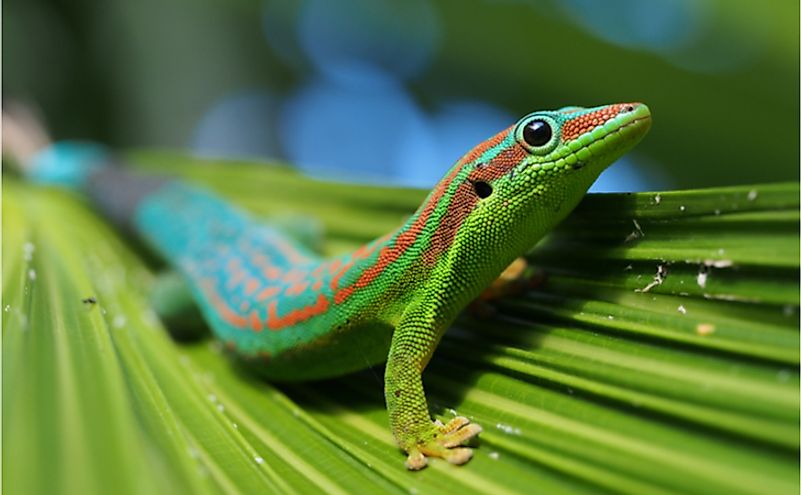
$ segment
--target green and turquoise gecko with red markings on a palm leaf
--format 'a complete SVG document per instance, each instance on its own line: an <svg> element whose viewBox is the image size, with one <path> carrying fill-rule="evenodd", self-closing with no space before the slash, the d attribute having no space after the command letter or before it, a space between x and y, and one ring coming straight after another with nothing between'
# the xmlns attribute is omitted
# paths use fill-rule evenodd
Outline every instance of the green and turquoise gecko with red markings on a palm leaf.
<svg viewBox="0 0 801 495"><path fill-rule="evenodd" d="M102 147L56 142L23 168L140 236L180 273L216 338L266 378L386 362L390 428L419 470L430 457L466 463L481 432L429 413L422 373L447 328L650 125L641 103L530 113L457 160L396 230L329 258L201 187L117 166Z"/></svg>

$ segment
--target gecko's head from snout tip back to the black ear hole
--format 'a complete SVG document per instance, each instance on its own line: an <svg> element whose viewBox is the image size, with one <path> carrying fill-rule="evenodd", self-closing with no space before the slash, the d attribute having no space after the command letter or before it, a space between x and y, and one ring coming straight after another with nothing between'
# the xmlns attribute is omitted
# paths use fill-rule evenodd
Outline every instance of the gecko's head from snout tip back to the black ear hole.
<svg viewBox="0 0 801 495"><path fill-rule="evenodd" d="M651 112L641 103L534 112L501 133L500 145L483 165L476 163L471 180L497 190L495 207L517 201L523 212L536 207L566 214L650 126Z"/></svg>

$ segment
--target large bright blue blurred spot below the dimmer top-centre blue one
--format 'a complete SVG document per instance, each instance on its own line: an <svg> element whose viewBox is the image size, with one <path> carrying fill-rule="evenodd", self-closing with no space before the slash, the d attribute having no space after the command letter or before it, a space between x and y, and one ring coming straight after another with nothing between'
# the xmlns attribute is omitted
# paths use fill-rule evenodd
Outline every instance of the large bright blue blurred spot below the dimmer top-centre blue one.
<svg viewBox="0 0 801 495"><path fill-rule="evenodd" d="M425 115L403 86L367 66L358 80L318 78L290 97L280 125L287 158L316 175L385 182L435 161Z"/></svg>

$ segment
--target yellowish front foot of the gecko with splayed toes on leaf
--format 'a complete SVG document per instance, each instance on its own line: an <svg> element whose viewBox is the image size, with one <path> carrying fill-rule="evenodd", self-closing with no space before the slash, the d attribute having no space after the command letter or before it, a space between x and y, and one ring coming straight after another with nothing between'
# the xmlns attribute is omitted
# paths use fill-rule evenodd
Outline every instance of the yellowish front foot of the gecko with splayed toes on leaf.
<svg viewBox="0 0 801 495"><path fill-rule="evenodd" d="M444 425L435 421L431 432L408 449L406 467L413 471L423 469L428 465L427 457L439 457L451 464L464 464L473 457L473 451L460 446L479 433L481 426L462 416L457 416Z"/></svg>

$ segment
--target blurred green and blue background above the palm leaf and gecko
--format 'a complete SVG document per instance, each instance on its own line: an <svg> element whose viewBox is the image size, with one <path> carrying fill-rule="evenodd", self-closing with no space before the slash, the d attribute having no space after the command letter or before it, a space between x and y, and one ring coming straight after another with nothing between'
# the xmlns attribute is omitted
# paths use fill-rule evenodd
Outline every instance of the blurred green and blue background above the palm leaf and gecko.
<svg viewBox="0 0 801 495"><path fill-rule="evenodd" d="M797 0L7 0L58 138L430 186L538 109L643 101L595 190L798 180Z"/></svg>

